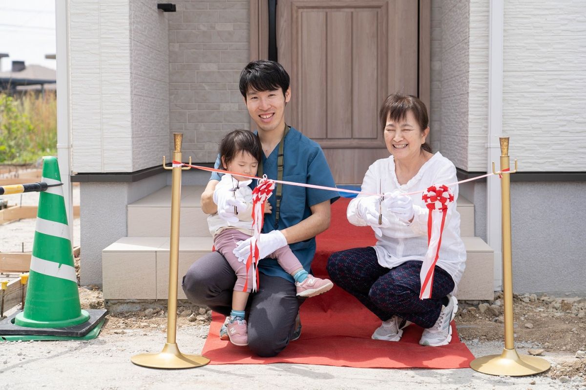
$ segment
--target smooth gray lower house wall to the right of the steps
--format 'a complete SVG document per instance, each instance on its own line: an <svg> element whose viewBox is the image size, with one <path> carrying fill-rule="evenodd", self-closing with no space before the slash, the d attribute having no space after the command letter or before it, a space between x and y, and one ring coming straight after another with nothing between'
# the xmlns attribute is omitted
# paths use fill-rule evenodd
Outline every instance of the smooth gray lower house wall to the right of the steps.
<svg viewBox="0 0 586 390"><path fill-rule="evenodd" d="M586 294L584 193L586 182L511 183L513 291ZM474 203L475 235L486 240L486 183L465 183L460 194Z"/></svg>

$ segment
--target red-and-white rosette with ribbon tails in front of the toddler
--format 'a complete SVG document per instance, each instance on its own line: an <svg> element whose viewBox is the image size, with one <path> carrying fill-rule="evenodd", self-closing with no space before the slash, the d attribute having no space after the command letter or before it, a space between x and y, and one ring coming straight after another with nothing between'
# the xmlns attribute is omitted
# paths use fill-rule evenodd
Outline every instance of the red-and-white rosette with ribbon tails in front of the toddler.
<svg viewBox="0 0 586 390"><path fill-rule="evenodd" d="M258 181L258 185L253 189L253 237L250 240L250 254L246 259L246 281L244 282L244 288L242 291L246 292L248 288L248 274L250 267L253 267L253 279L252 279L252 291L258 289L258 237L263 231L264 224L264 205L267 199L271 196L272 190L275 188L275 182L267 180L267 176L264 175L261 180Z"/></svg>

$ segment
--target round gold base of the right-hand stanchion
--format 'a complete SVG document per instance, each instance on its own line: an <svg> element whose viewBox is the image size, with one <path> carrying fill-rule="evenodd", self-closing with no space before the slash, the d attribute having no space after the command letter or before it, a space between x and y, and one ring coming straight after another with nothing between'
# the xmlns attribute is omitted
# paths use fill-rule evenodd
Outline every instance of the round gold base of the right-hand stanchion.
<svg viewBox="0 0 586 390"><path fill-rule="evenodd" d="M500 355L483 356L472 360L470 367L483 374L523 377L547 371L551 364L537 356L519 356L515 348L505 348Z"/></svg>

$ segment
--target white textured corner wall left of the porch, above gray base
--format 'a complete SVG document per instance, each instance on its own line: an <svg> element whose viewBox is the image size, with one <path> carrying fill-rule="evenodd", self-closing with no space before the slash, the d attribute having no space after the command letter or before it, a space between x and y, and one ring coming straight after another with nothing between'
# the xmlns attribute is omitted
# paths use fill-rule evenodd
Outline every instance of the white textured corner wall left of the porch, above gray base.
<svg viewBox="0 0 586 390"><path fill-rule="evenodd" d="M73 171L132 172L161 161L166 20L154 0L69 3Z"/></svg>

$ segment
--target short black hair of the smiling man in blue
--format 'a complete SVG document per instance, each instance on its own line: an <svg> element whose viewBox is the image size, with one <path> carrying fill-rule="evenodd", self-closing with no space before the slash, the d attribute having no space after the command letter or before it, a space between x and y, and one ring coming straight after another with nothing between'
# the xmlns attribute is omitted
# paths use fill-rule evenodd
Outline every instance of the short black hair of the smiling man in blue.
<svg viewBox="0 0 586 390"><path fill-rule="evenodd" d="M279 88L285 95L289 89L289 74L280 63L275 61L252 61L240 73L240 93L244 99L249 89L264 92Z"/></svg>

